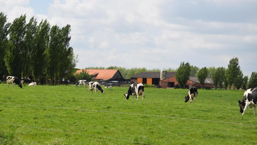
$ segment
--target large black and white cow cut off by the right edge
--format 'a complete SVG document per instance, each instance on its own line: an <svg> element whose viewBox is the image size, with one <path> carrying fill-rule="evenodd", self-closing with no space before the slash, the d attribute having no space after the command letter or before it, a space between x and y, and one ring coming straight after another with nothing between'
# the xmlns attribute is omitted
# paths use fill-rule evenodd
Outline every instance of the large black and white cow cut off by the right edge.
<svg viewBox="0 0 257 145"><path fill-rule="evenodd" d="M256 106L257 106L257 88L248 89L244 93L242 101L238 101L240 112L242 115L245 114L247 108L253 107L253 114L255 115ZM243 110L244 109L244 110Z"/></svg>

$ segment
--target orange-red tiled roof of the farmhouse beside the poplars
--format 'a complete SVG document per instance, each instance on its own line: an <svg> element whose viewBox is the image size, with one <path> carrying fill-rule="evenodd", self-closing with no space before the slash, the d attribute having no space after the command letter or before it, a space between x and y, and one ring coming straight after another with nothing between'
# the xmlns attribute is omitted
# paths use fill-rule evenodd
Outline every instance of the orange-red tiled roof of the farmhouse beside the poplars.
<svg viewBox="0 0 257 145"><path fill-rule="evenodd" d="M84 69L86 70L86 69ZM87 72L90 74L90 75L96 75L95 79L110 79L112 78L115 73L117 72L118 70L105 70L105 69L102 69L102 70L98 70L98 69L87 69ZM76 73L80 73L82 72L82 70L77 70Z"/></svg>

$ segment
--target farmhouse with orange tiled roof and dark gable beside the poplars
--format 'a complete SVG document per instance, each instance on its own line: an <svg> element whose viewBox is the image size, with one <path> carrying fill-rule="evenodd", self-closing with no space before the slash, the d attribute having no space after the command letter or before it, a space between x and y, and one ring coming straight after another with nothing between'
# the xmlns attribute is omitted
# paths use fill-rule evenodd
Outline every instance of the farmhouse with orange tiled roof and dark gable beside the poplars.
<svg viewBox="0 0 257 145"><path fill-rule="evenodd" d="M105 81L109 79L114 79L114 78L123 78L119 70L115 69L84 69L87 71L92 77L97 79L98 81ZM80 73L82 70L77 70L76 73Z"/></svg>

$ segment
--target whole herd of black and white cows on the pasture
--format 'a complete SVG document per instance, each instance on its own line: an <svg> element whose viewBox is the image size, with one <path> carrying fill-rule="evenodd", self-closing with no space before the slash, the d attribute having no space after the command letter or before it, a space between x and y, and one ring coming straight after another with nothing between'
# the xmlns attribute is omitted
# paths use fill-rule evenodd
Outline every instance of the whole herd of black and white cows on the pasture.
<svg viewBox="0 0 257 145"><path fill-rule="evenodd" d="M17 77L13 77L13 76L7 76L6 78L6 82L7 82L7 87L9 87L9 84L15 85L16 84L19 85L19 87L22 88L22 84L23 83L27 83L29 84L29 86L36 86L37 84L35 82L32 82L29 78L17 78ZM1 83L1 81L0 81ZM89 85L89 89L88 92L92 91L93 93L93 89L95 89L95 94L98 90L101 91L101 93L104 94L104 89L101 88L100 84L96 81L91 81L91 82L87 82L86 80L79 80L78 83L75 84L75 86L77 85L84 85L84 87L86 87L87 85ZM112 86L106 87L106 88L111 88ZM127 93L124 94L126 100L129 99L129 96L132 95L132 100L134 100L134 95L136 95L136 99L138 100L139 96L142 96L143 100L145 98L145 94L144 94L144 85L141 83L135 83L135 84L131 84L129 86L129 90ZM188 94L185 96L185 102L190 100L190 103L193 103L196 96L198 95L198 90L196 87L191 87L188 91ZM247 108L252 108L253 107L253 114L255 115L256 113L256 106L257 106L257 88L251 88L245 91L244 93L244 97L242 99L242 101L238 101L239 103L239 108L240 108L240 112L242 113L242 115L245 114Z"/></svg>

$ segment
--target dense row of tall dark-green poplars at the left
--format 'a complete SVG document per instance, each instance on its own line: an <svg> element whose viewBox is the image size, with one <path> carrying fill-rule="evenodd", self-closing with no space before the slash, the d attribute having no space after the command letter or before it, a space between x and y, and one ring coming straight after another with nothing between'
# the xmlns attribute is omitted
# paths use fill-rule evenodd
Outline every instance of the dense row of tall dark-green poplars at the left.
<svg viewBox="0 0 257 145"><path fill-rule="evenodd" d="M70 75L77 56L70 47L70 24L50 26L47 20L39 23L32 17L26 23L26 14L12 23L0 13L0 76L34 78L37 83ZM60 81L59 81L60 83Z"/></svg>

